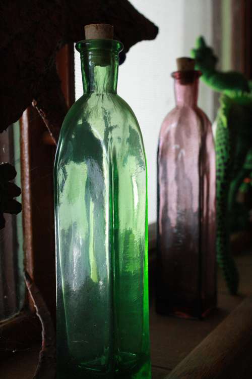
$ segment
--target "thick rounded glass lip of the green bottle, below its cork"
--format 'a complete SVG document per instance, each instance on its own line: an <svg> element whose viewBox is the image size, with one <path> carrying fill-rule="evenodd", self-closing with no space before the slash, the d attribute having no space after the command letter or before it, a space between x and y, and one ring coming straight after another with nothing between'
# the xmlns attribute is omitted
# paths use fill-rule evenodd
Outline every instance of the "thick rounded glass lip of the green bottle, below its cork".
<svg viewBox="0 0 252 379"><path fill-rule="evenodd" d="M75 48L79 53L105 50L119 54L123 50L123 43L116 39L83 39L76 43Z"/></svg>

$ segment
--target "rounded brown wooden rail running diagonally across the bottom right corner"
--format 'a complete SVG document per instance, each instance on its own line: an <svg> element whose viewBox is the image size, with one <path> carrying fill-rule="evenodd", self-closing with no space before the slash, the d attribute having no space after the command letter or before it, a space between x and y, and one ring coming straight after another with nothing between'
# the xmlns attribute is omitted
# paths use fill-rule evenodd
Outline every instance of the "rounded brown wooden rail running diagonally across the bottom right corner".
<svg viewBox="0 0 252 379"><path fill-rule="evenodd" d="M252 377L251 352L252 297L249 297L188 354L166 379Z"/></svg>

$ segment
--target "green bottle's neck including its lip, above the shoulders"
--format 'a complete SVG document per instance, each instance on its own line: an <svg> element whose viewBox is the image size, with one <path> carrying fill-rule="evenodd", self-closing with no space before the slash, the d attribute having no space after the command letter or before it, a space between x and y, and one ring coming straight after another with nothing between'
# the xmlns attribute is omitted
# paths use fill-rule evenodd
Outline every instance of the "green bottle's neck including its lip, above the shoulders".
<svg viewBox="0 0 252 379"><path fill-rule="evenodd" d="M110 39L78 42L84 93L116 93L122 44Z"/></svg>

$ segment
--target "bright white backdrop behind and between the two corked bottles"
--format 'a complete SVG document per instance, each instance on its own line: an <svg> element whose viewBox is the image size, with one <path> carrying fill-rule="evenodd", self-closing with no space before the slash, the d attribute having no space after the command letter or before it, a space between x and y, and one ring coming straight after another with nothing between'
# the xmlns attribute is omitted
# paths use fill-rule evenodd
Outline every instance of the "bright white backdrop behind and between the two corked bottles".
<svg viewBox="0 0 252 379"><path fill-rule="evenodd" d="M173 79L176 58L190 56L195 40L203 35L212 43L211 0L131 0L159 27L153 41L130 50L119 67L118 94L136 114L144 138L148 164L149 223L156 221L156 154L159 129L174 107ZM82 95L79 53L76 54L76 98ZM200 86L199 105L213 121L213 92Z"/></svg>

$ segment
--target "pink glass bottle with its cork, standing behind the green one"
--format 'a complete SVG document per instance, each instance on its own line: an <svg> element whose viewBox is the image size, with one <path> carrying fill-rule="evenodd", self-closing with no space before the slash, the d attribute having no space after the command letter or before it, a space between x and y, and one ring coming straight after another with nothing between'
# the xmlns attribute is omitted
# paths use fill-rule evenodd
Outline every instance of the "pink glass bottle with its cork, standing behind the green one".
<svg viewBox="0 0 252 379"><path fill-rule="evenodd" d="M215 151L210 121L198 108L201 73L177 59L176 107L158 146L158 313L202 318L216 306Z"/></svg>

